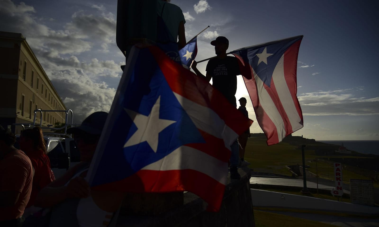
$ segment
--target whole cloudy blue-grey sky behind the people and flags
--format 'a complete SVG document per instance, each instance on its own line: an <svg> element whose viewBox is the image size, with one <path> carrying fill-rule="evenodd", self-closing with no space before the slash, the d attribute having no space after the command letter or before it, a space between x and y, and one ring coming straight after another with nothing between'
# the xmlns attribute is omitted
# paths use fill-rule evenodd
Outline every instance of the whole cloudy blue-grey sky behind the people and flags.
<svg viewBox="0 0 379 227"><path fill-rule="evenodd" d="M304 128L316 140L379 140L377 0L172 0L185 15L187 40L198 38L197 60L229 50L304 35L298 58L298 98ZM116 46L117 1L0 0L0 30L22 33L75 121L109 111L125 58ZM205 73L206 62L198 68ZM248 98L243 79L236 98ZM251 132L262 132L251 102Z"/></svg>

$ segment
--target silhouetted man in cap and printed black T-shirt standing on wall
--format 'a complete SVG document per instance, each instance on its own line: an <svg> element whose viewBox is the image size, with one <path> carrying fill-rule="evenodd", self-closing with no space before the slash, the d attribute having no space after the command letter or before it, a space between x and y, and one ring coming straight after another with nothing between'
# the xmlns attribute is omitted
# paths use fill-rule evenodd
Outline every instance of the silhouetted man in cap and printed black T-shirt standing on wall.
<svg viewBox="0 0 379 227"><path fill-rule="evenodd" d="M237 107L235 98L237 75L241 75L238 59L226 55L226 50L229 48L229 40L226 37L217 37L211 42L211 45L215 46L217 56L208 61L206 76L196 68L196 61L193 61L192 69L198 76L205 77L208 82L212 79L213 87L219 90L233 106ZM240 174L237 172L238 162L238 141L235 141L232 145L232 156L230 157L230 177L232 179L240 179Z"/></svg>

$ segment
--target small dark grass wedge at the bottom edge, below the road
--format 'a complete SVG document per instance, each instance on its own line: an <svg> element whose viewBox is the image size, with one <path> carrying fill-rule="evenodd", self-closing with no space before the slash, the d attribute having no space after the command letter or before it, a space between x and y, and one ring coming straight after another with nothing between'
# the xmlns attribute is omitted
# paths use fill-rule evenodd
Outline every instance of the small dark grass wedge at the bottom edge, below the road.
<svg viewBox="0 0 379 227"><path fill-rule="evenodd" d="M335 225L325 224L323 222L312 221L302 218L294 218L286 215L279 215L267 211L254 210L255 227L335 227Z"/></svg>

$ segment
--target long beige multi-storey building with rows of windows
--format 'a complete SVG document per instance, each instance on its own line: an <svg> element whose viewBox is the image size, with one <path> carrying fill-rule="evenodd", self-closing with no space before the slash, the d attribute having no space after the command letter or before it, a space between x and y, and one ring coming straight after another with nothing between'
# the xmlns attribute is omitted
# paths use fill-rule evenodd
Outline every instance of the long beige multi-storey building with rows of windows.
<svg viewBox="0 0 379 227"><path fill-rule="evenodd" d="M66 110L26 38L0 31L0 124L33 123L34 110ZM36 122L40 123L41 113ZM43 126L65 122L64 112L42 114ZM19 134L21 126L12 126Z"/></svg>

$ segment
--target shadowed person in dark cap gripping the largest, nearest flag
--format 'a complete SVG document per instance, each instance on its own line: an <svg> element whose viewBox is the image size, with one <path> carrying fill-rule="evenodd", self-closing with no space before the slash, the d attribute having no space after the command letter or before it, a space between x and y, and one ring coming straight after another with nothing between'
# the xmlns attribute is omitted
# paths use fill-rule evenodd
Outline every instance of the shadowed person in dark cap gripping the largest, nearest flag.
<svg viewBox="0 0 379 227"><path fill-rule="evenodd" d="M82 162L38 194L36 206L52 207L50 226L103 226L119 207L121 193L91 190L85 180L107 116L95 112L80 126L67 129L74 134Z"/></svg>

